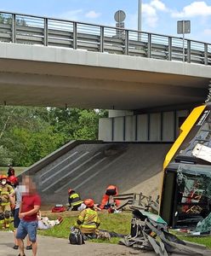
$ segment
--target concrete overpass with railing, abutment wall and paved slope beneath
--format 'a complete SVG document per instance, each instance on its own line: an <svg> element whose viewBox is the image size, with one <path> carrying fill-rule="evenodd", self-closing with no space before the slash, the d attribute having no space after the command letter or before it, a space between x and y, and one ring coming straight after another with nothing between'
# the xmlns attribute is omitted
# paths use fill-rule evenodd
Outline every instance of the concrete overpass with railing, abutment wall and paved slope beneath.
<svg viewBox="0 0 211 256"><path fill-rule="evenodd" d="M112 109L104 142L68 143L29 168L43 201L68 187L100 201L108 183L157 193L164 155L208 94L211 44L185 39L183 61L182 38L0 14L0 104Z"/></svg>

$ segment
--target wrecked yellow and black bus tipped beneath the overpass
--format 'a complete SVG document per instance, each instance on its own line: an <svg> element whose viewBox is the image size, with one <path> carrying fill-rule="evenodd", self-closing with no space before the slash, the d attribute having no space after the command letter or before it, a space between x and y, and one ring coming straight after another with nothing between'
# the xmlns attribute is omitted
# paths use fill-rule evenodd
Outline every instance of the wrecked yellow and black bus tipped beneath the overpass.
<svg viewBox="0 0 211 256"><path fill-rule="evenodd" d="M160 215L194 227L211 212L211 104L194 108L163 164Z"/></svg>

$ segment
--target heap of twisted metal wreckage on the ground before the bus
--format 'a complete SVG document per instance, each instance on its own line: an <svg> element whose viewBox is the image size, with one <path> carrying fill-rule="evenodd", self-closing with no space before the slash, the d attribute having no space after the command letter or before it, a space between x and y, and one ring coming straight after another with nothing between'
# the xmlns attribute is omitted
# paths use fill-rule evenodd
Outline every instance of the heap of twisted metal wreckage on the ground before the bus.
<svg viewBox="0 0 211 256"><path fill-rule="evenodd" d="M181 241L168 232L167 223L159 215L135 209L131 222L131 232L120 244L145 251L154 251L157 255L203 255L204 246Z"/></svg>

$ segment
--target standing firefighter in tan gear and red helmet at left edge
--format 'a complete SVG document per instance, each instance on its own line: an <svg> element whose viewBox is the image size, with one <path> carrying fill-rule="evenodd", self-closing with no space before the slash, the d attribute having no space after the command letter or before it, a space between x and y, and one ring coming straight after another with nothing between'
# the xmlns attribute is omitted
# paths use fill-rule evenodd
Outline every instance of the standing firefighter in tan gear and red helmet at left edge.
<svg viewBox="0 0 211 256"><path fill-rule="evenodd" d="M0 177L0 225L2 228L9 229L11 222L11 206L14 205L14 189L8 184L7 176Z"/></svg>

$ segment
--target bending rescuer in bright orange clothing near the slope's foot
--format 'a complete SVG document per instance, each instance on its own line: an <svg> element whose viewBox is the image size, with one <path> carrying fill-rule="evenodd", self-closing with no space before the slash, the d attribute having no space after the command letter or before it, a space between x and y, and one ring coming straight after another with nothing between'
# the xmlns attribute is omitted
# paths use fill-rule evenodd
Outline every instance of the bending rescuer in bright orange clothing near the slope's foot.
<svg viewBox="0 0 211 256"><path fill-rule="evenodd" d="M103 195L100 209L109 209L110 212L114 212L113 208L120 206L120 201L113 199L114 195L118 195L117 186L109 185L106 189L106 194Z"/></svg>

